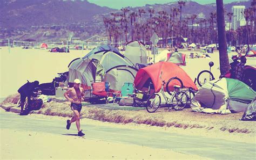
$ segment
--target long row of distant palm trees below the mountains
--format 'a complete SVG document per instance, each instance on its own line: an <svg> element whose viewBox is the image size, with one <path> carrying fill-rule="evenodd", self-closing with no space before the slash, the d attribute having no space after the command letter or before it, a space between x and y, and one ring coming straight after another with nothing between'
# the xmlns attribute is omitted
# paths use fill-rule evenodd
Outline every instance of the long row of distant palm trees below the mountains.
<svg viewBox="0 0 256 160"><path fill-rule="evenodd" d="M120 12L111 13L110 17L103 19L109 42L149 42L153 32L156 32L162 38L163 46L166 46L170 39L173 40L173 45L180 45L183 38L188 38L189 43L218 43L216 12L211 12L209 18L198 18L197 14L183 18L182 9L185 5L184 1L179 1L179 8L171 8L169 12L156 12L152 8L147 11L138 9L136 12L123 8ZM254 1L252 8L246 9L244 15L246 26L235 31L230 27L227 32L227 42L230 45L255 43ZM233 13L227 13L226 16L231 23Z"/></svg>

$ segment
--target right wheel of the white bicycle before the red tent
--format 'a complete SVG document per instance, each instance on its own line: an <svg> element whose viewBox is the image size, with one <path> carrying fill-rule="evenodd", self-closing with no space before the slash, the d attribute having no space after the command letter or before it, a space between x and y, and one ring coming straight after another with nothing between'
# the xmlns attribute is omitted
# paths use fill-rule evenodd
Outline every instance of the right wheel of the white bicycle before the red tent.
<svg viewBox="0 0 256 160"><path fill-rule="evenodd" d="M187 105L187 94L184 91L178 91L172 97L172 106L174 110L180 111Z"/></svg>

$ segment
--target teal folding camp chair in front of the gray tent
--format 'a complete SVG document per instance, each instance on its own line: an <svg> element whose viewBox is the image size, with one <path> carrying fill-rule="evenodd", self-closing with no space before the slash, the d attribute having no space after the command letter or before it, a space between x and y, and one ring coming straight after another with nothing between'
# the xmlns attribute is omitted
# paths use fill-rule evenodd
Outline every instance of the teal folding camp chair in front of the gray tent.
<svg viewBox="0 0 256 160"><path fill-rule="evenodd" d="M130 97L133 94L133 84L125 82L122 86L121 93L113 93L114 101L120 101L122 98Z"/></svg>

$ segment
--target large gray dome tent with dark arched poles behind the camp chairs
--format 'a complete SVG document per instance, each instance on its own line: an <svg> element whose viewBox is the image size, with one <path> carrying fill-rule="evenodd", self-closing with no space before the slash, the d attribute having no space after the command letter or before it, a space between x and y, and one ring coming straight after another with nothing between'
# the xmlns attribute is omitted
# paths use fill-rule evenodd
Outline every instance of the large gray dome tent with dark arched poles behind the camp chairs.
<svg viewBox="0 0 256 160"><path fill-rule="evenodd" d="M124 82L131 82L137 70L133 63L120 53L103 50L89 57L75 59L69 64L69 82L76 78L85 86L91 81L110 82L110 89L120 91ZM129 74L127 74L129 73Z"/></svg>

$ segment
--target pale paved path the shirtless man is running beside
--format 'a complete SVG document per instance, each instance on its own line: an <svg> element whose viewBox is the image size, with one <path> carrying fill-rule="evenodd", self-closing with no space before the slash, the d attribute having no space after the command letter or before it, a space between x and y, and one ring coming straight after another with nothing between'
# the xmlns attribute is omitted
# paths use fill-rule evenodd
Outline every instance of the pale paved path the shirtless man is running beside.
<svg viewBox="0 0 256 160"><path fill-rule="evenodd" d="M47 118L20 116L0 112L0 128L31 130L40 133L76 136L75 123L70 130L65 129L65 121ZM256 146L253 143L239 143L199 136L187 136L143 129L124 129L100 125L83 124L86 139L104 140L118 143L137 144L151 148L167 149L185 154L199 155L214 159L255 159Z"/></svg>

